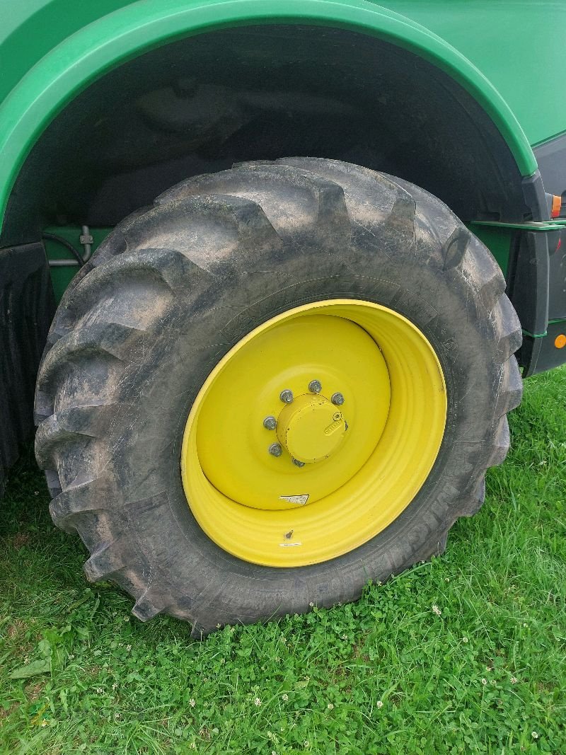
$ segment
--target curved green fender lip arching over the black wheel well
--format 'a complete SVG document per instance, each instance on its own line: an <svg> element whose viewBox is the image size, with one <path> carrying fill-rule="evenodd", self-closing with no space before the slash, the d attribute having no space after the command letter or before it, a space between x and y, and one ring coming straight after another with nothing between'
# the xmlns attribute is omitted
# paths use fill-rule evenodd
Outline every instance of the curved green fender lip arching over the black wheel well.
<svg viewBox="0 0 566 755"><path fill-rule="evenodd" d="M91 82L158 45L247 24L300 23L350 29L414 52L447 72L477 100L502 134L522 176L537 171L527 137L503 97L477 67L438 35L365 0L285 0L277 5L274 14L269 0L133 3L63 39L23 76L0 106L0 219L33 144L54 116ZM8 57L11 51L5 54Z"/></svg>

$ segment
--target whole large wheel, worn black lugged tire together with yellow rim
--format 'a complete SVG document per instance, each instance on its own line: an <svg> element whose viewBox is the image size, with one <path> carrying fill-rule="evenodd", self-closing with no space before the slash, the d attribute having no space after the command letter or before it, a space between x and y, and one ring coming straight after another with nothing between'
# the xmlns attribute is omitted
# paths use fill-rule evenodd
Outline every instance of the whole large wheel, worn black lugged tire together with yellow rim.
<svg viewBox="0 0 566 755"><path fill-rule="evenodd" d="M327 159L190 178L106 239L38 377L51 515L195 636L356 599L441 553L521 399L490 252Z"/></svg>

